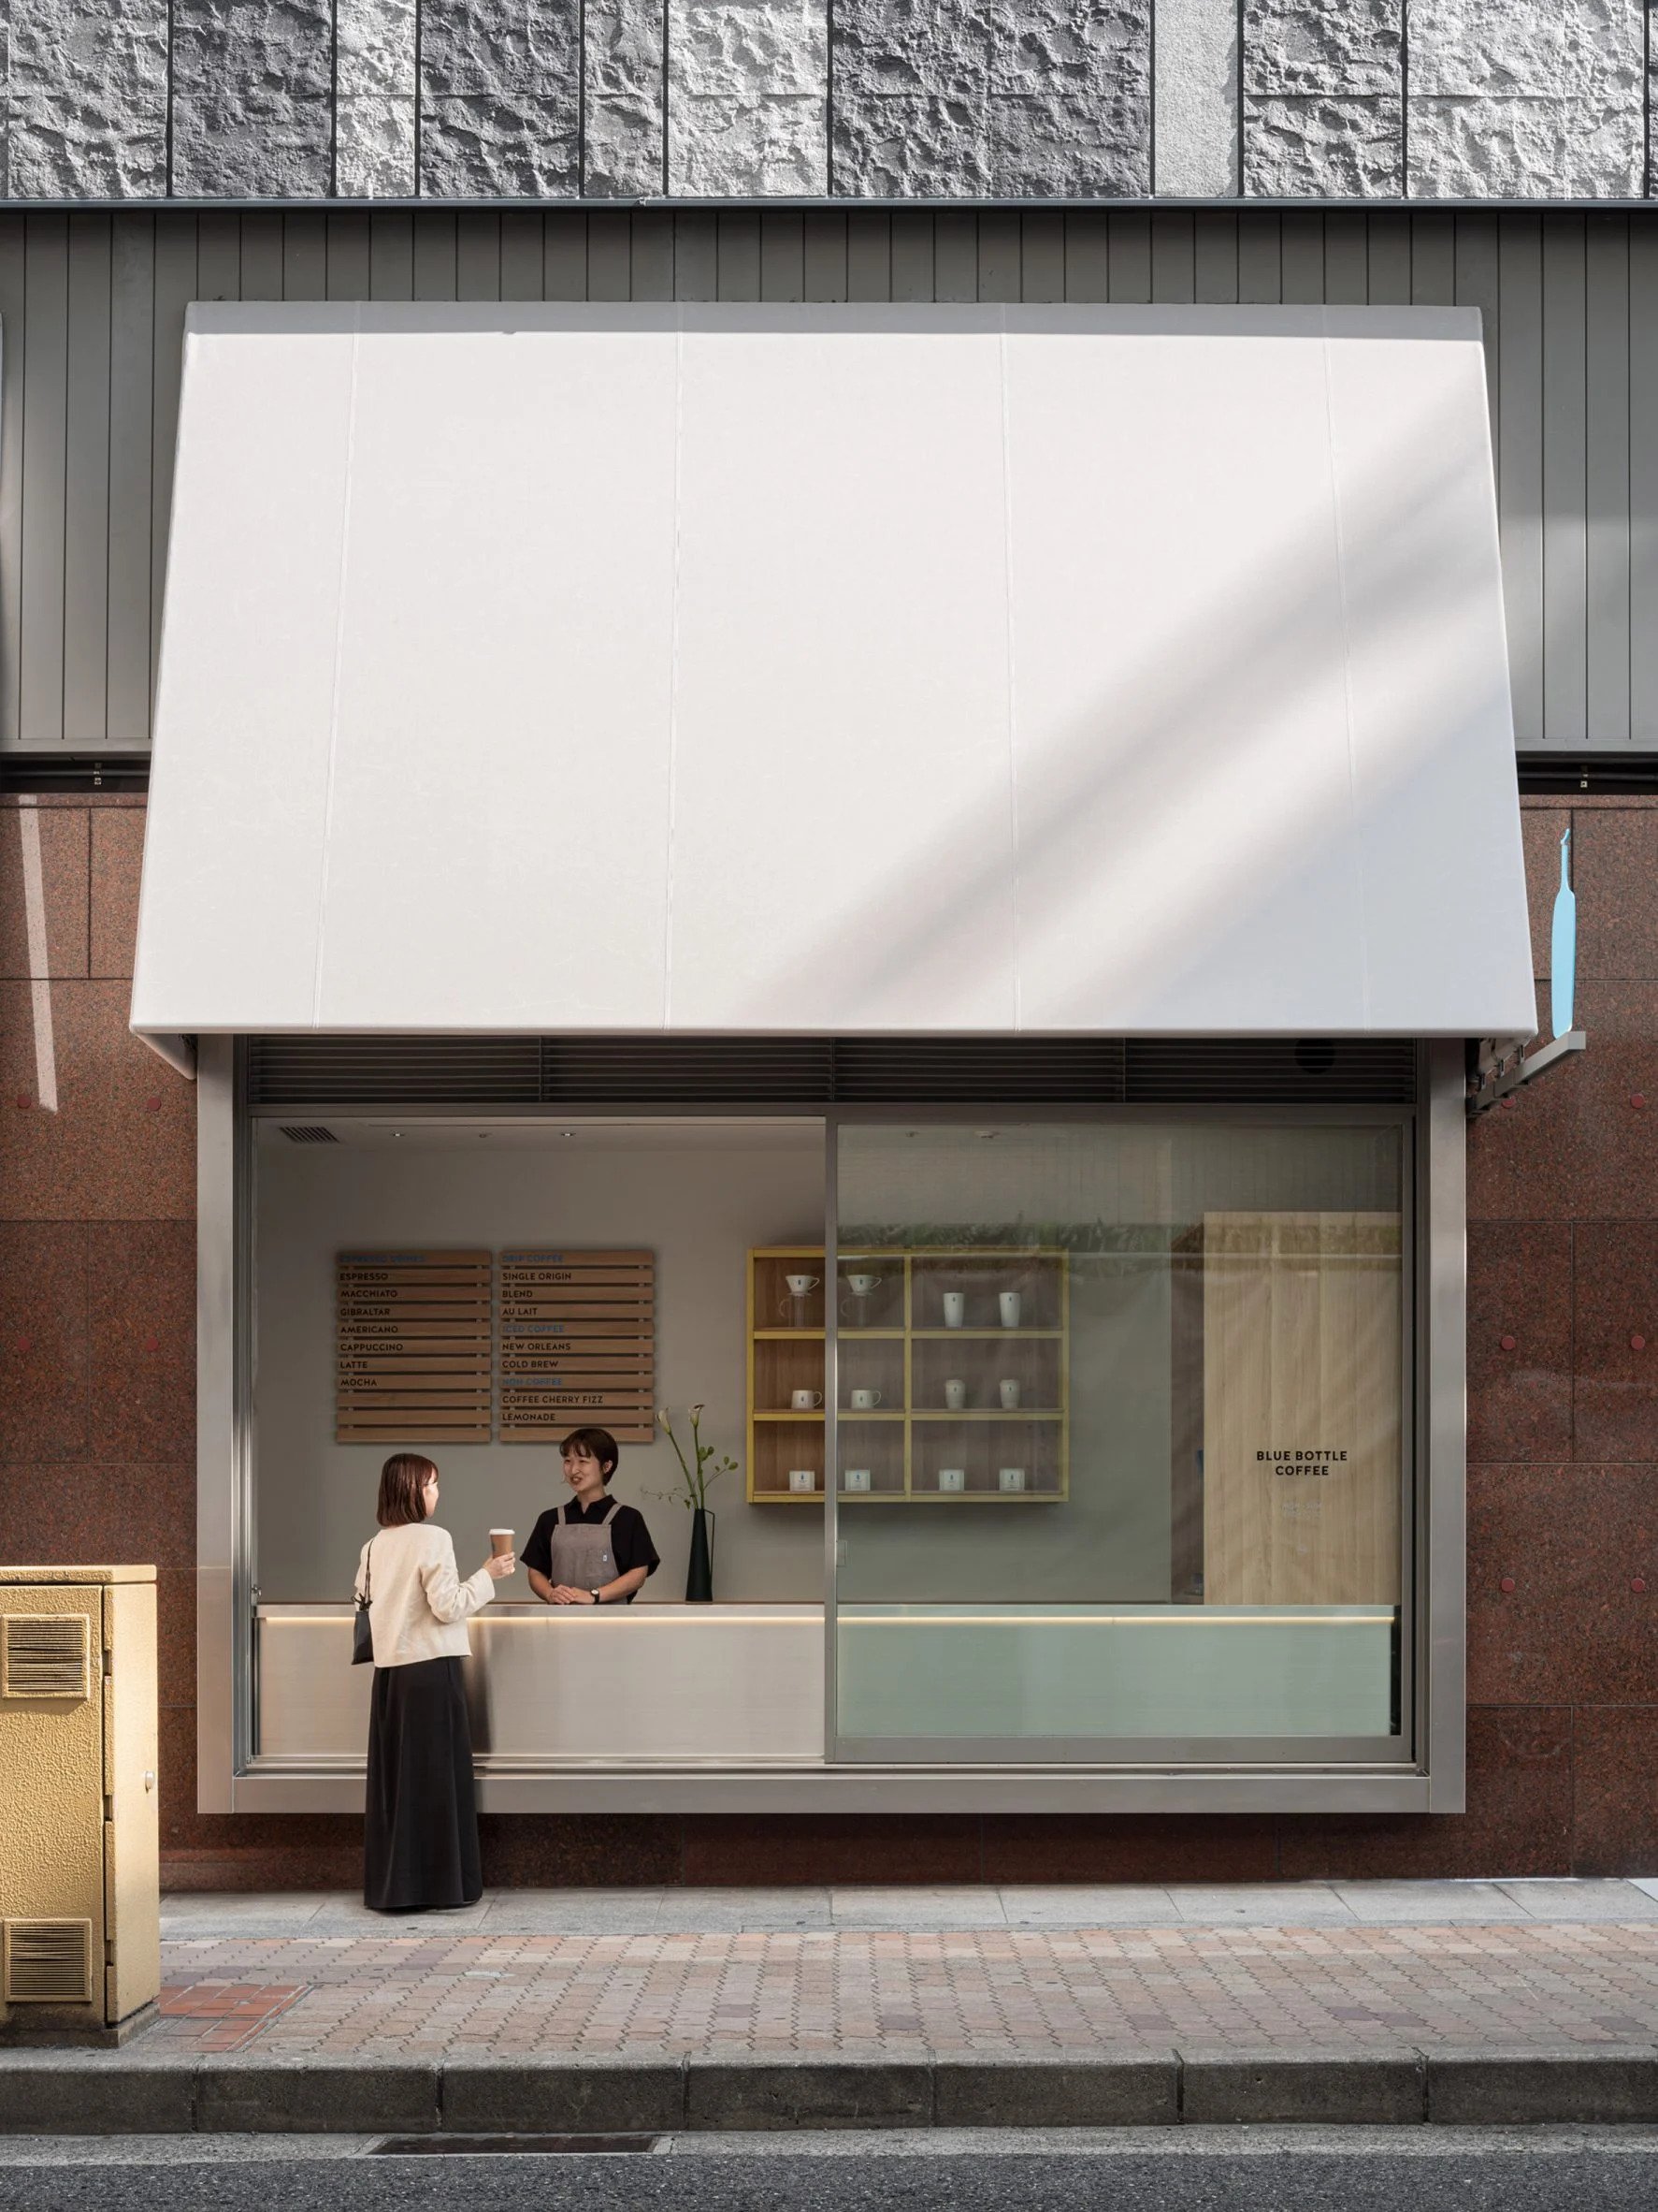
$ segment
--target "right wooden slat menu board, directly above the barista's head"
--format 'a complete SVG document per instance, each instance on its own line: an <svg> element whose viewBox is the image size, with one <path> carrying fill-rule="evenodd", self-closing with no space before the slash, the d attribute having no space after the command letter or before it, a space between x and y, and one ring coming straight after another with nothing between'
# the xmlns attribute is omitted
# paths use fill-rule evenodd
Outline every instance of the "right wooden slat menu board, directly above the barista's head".
<svg viewBox="0 0 1658 2212"><path fill-rule="evenodd" d="M650 1252L502 1252L502 1442L592 1422L648 1444L657 1391Z"/></svg>

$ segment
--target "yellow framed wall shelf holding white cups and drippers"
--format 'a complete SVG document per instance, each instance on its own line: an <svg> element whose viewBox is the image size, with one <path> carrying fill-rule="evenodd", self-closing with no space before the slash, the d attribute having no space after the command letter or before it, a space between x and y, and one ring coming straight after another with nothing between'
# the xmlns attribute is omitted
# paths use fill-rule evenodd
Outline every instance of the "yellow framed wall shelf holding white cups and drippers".
<svg viewBox="0 0 1658 2212"><path fill-rule="evenodd" d="M747 1498L822 1504L833 1298L844 1504L1052 1504L1070 1493L1063 1250L760 1245L747 1263Z"/></svg>

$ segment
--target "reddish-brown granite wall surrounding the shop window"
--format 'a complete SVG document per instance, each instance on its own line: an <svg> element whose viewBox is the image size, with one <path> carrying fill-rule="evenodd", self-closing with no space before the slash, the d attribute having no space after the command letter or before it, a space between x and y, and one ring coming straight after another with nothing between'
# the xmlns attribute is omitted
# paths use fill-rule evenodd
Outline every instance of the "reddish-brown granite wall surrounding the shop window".
<svg viewBox="0 0 1658 2212"><path fill-rule="evenodd" d="M195 1812L195 1097L126 1031L141 801L42 799L55 1108L0 805L0 1557L155 1562L172 1887L349 1885L358 1823ZM1658 1871L1658 801L1565 818L1583 1062L1470 1137L1468 1790L1457 1818L495 1818L495 1882ZM1512 1590L1503 1590L1512 1582Z"/></svg>

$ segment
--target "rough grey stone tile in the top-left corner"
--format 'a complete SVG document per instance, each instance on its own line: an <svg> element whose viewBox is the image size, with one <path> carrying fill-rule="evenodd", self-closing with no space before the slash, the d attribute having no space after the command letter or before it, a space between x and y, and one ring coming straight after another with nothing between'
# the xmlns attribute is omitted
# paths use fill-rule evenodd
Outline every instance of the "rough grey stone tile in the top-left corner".
<svg viewBox="0 0 1658 2212"><path fill-rule="evenodd" d="M157 199L168 177L166 0L11 0L7 190Z"/></svg>

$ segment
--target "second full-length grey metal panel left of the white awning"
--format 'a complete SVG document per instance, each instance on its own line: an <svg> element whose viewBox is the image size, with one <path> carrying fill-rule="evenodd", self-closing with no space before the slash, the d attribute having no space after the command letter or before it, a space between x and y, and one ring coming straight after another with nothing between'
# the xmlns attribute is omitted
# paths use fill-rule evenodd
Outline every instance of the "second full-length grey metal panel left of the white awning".
<svg viewBox="0 0 1658 2212"><path fill-rule="evenodd" d="M111 219L69 219L69 407L64 462L64 743L108 737Z"/></svg>

